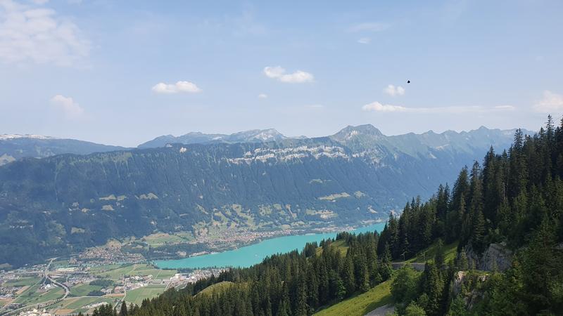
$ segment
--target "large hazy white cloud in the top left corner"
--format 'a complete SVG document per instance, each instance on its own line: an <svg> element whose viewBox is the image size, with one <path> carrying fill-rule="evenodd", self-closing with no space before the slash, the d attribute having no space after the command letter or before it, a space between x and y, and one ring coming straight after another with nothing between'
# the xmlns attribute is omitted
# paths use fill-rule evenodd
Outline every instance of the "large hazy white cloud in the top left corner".
<svg viewBox="0 0 563 316"><path fill-rule="evenodd" d="M0 60L70 66L89 51L77 25L56 11L0 0Z"/></svg>

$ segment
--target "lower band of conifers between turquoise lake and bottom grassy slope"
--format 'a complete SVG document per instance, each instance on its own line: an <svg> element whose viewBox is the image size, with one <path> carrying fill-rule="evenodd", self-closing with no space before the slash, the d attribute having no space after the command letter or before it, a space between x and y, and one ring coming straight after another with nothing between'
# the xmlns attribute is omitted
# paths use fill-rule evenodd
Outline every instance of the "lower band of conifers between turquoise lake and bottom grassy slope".
<svg viewBox="0 0 563 316"><path fill-rule="evenodd" d="M377 256L377 232L343 232L336 238L348 244L346 256L331 239L321 243L321 254L316 244L308 244L301 253L274 255L251 268L228 270L180 291L167 290L139 308L129 308L127 315L311 315L385 280L379 275L384 264ZM223 281L232 286L199 294Z"/></svg>

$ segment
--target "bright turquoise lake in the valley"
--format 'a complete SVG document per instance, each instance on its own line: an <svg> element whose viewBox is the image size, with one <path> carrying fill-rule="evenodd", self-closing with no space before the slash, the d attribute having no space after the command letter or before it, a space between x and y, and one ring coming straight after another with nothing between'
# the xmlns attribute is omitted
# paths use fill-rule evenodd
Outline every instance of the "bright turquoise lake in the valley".
<svg viewBox="0 0 563 316"><path fill-rule="evenodd" d="M381 232L385 223L377 223L369 225L350 232L359 234L360 232L373 232L377 230ZM203 256L194 256L178 260L160 260L154 261L158 268L208 268L208 267L250 267L256 263L262 262L267 256L272 254L283 254L297 249L301 251L308 242L320 242L322 239L334 238L336 232L324 234L308 234L283 236L272 239L266 239L257 244L244 246L239 249L223 251L217 254L206 254Z"/></svg>

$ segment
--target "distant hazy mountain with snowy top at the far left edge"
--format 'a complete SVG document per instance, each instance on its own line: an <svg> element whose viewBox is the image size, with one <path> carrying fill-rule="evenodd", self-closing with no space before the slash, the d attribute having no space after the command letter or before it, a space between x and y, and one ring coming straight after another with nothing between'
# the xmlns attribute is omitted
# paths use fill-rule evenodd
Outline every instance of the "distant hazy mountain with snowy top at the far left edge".
<svg viewBox="0 0 563 316"><path fill-rule="evenodd" d="M125 147L101 145L83 140L0 134L0 166L23 157L43 158L56 154L91 154L124 149Z"/></svg>

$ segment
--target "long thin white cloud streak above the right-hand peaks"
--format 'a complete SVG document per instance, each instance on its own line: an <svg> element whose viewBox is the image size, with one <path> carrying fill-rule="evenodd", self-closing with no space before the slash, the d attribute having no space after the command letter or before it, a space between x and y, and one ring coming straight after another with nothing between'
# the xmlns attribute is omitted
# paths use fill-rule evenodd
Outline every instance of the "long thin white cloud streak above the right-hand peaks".
<svg viewBox="0 0 563 316"><path fill-rule="evenodd" d="M367 112L409 112L409 113L436 113L436 114L462 114L462 113L490 113L513 111L512 105L498 105L485 107L481 105L454 106L454 107L403 107L401 105L383 105L379 102L369 103L362 106Z"/></svg>

